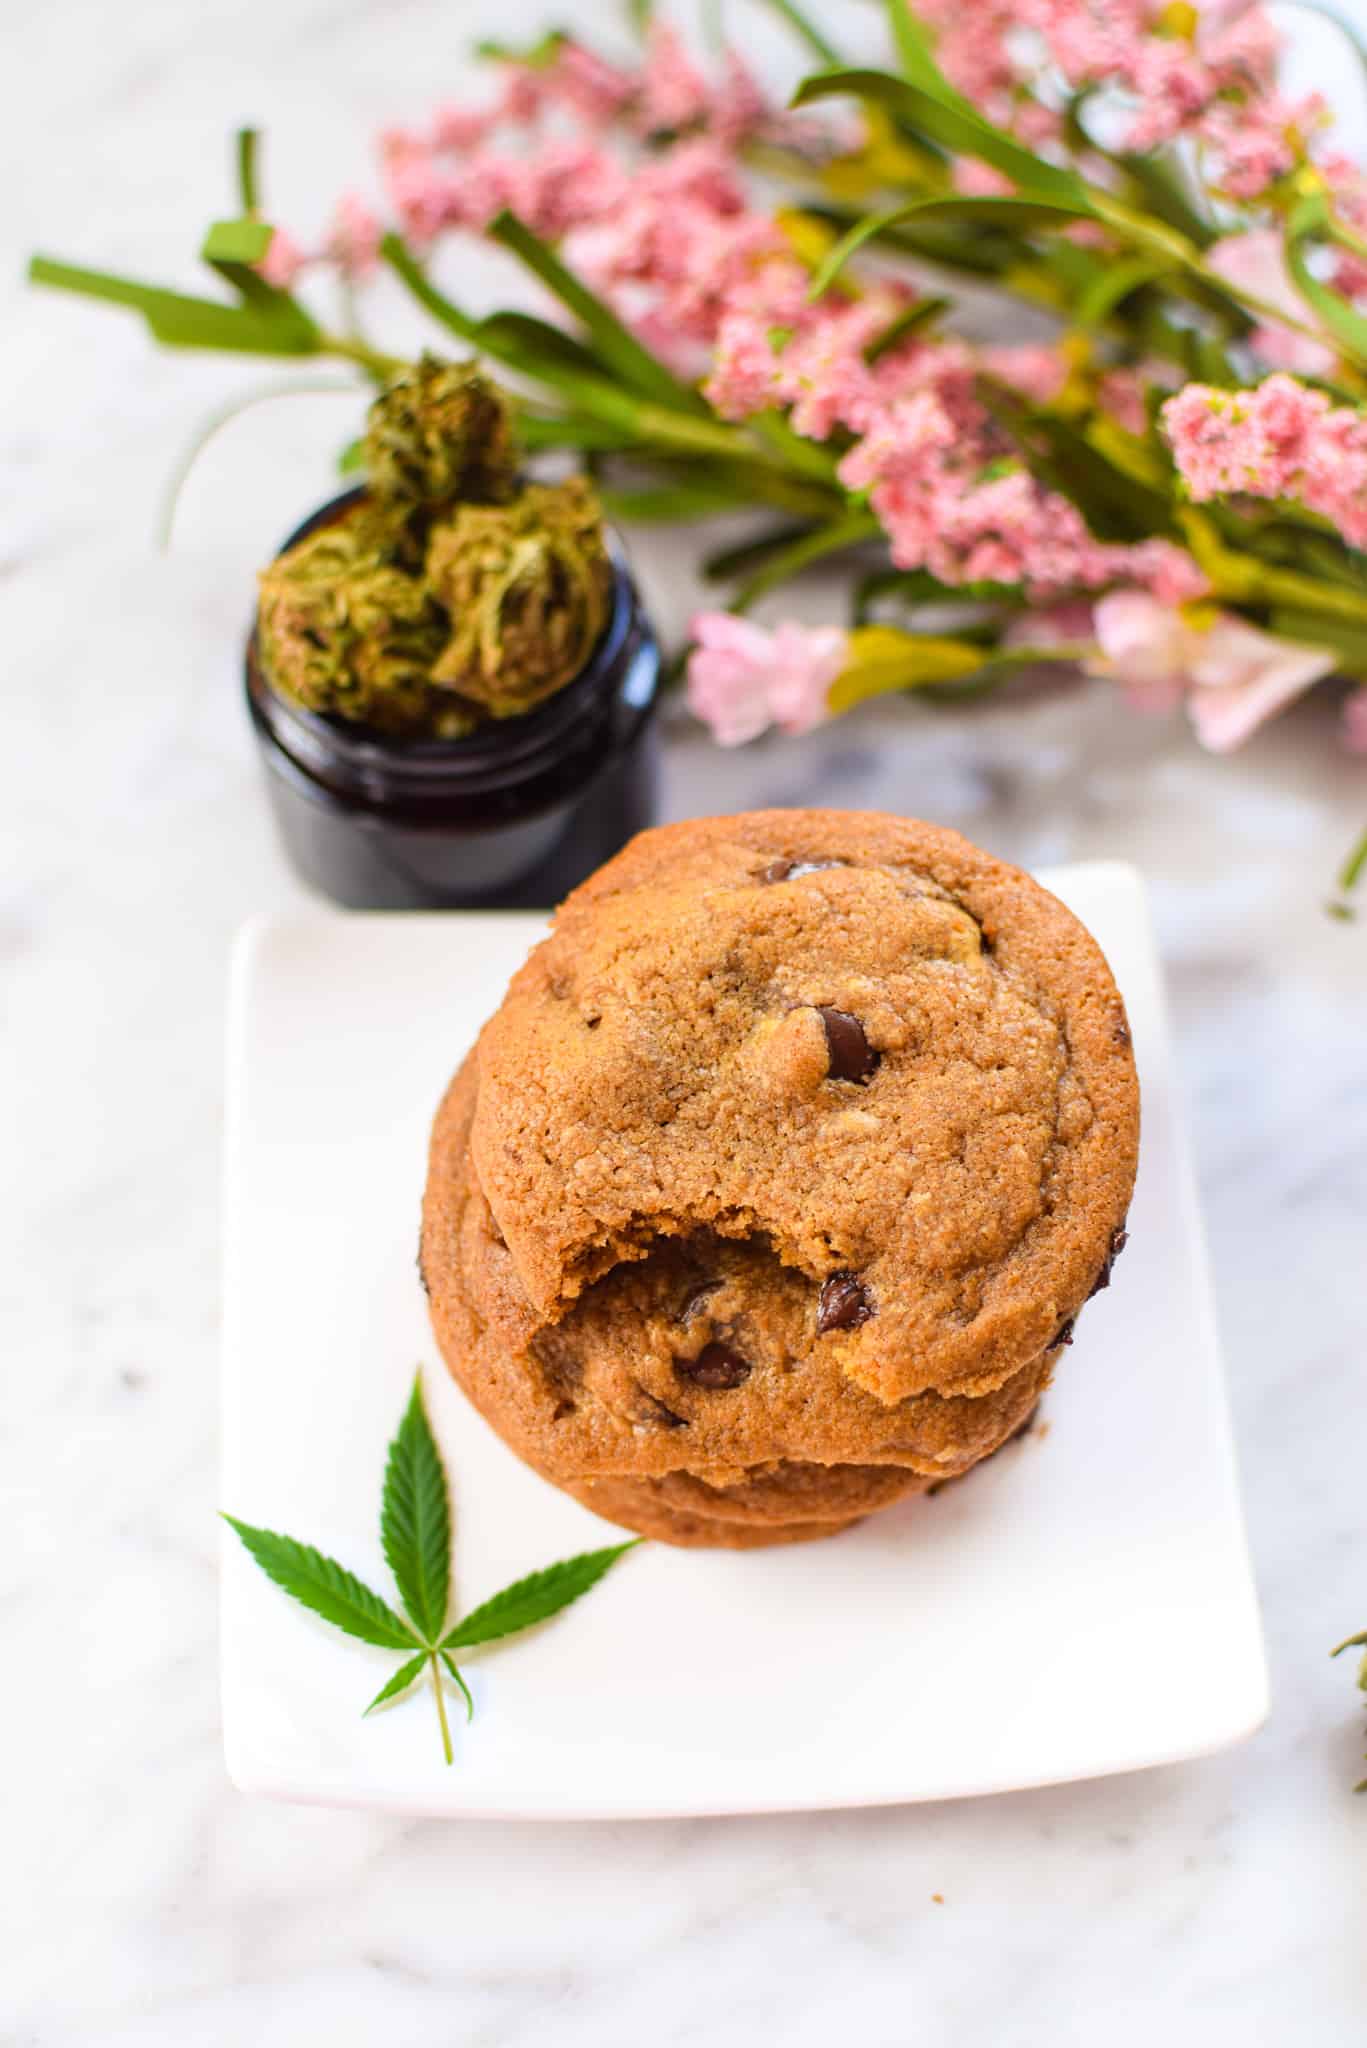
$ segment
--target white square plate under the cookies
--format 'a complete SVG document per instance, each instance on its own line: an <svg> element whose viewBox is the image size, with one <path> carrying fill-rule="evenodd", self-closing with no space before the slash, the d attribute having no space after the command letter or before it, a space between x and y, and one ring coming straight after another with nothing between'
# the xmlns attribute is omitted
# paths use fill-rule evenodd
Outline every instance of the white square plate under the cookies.
<svg viewBox="0 0 1367 2048"><path fill-rule="evenodd" d="M625 1559L361 1720L383 1653L223 1536L223 1733L246 1792L426 1815L621 1819L998 1792L1250 1735L1267 1669L1144 891L1043 881L1101 940L1144 1083L1131 1243L1037 1427L963 1485L816 1544ZM437 1360L414 1270L437 1100L537 938L529 913L309 911L242 934L227 1049L223 1505L387 1589L383 1452L414 1364L455 1497L461 1608L609 1524L535 1479Z"/></svg>

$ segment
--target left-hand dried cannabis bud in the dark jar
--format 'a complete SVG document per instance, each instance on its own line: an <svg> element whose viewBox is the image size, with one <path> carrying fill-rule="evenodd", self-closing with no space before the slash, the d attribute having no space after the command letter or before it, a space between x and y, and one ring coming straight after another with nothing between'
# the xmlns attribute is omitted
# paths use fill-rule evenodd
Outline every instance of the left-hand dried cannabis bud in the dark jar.
<svg viewBox="0 0 1367 2048"><path fill-rule="evenodd" d="M451 621L391 555L393 518L367 500L279 555L260 575L260 666L307 711L459 737L475 723L469 709L428 680Z"/></svg>

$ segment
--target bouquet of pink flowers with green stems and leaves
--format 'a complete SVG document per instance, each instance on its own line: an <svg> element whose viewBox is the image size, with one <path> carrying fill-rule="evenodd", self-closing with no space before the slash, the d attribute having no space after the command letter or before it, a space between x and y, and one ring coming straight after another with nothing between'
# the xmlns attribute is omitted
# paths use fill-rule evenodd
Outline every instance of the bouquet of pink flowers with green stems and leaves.
<svg viewBox="0 0 1367 2048"><path fill-rule="evenodd" d="M576 451L613 516L752 510L703 565L728 604L687 664L723 745L1070 662L1185 702L1213 750L1347 676L1367 752L1367 176L1326 106L1281 90L1260 0L885 0L885 68L771 6L816 66L789 106L662 18L629 57L484 45L482 104L381 137L389 225L348 195L301 244L244 133L240 209L203 244L225 295L33 276L170 346L383 383L402 365L355 287L387 266L514 379L523 446ZM547 311L461 305L461 236L525 264ZM992 303L1037 338L974 338ZM846 621L748 616L834 557ZM1365 866L1367 836L1344 891Z"/></svg>

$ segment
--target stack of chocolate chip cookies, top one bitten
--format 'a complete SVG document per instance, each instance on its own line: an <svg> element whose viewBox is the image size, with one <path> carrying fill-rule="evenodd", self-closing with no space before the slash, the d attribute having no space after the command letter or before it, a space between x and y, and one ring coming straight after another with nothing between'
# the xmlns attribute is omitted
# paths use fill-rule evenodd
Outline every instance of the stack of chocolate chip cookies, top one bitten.
<svg viewBox="0 0 1367 2048"><path fill-rule="evenodd" d="M826 1536L1025 1425L1137 1133L1107 963L1027 874L877 813L666 825L564 903L451 1081L437 1339L611 1522Z"/></svg>

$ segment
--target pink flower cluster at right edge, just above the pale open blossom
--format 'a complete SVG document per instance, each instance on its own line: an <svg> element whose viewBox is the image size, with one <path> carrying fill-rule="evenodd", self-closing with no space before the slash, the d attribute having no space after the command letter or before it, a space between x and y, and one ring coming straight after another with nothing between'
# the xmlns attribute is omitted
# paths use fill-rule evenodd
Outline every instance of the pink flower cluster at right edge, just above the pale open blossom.
<svg viewBox="0 0 1367 2048"><path fill-rule="evenodd" d="M1277 373L1250 391L1187 385L1162 424L1197 502L1291 498L1367 547L1367 412Z"/></svg>

